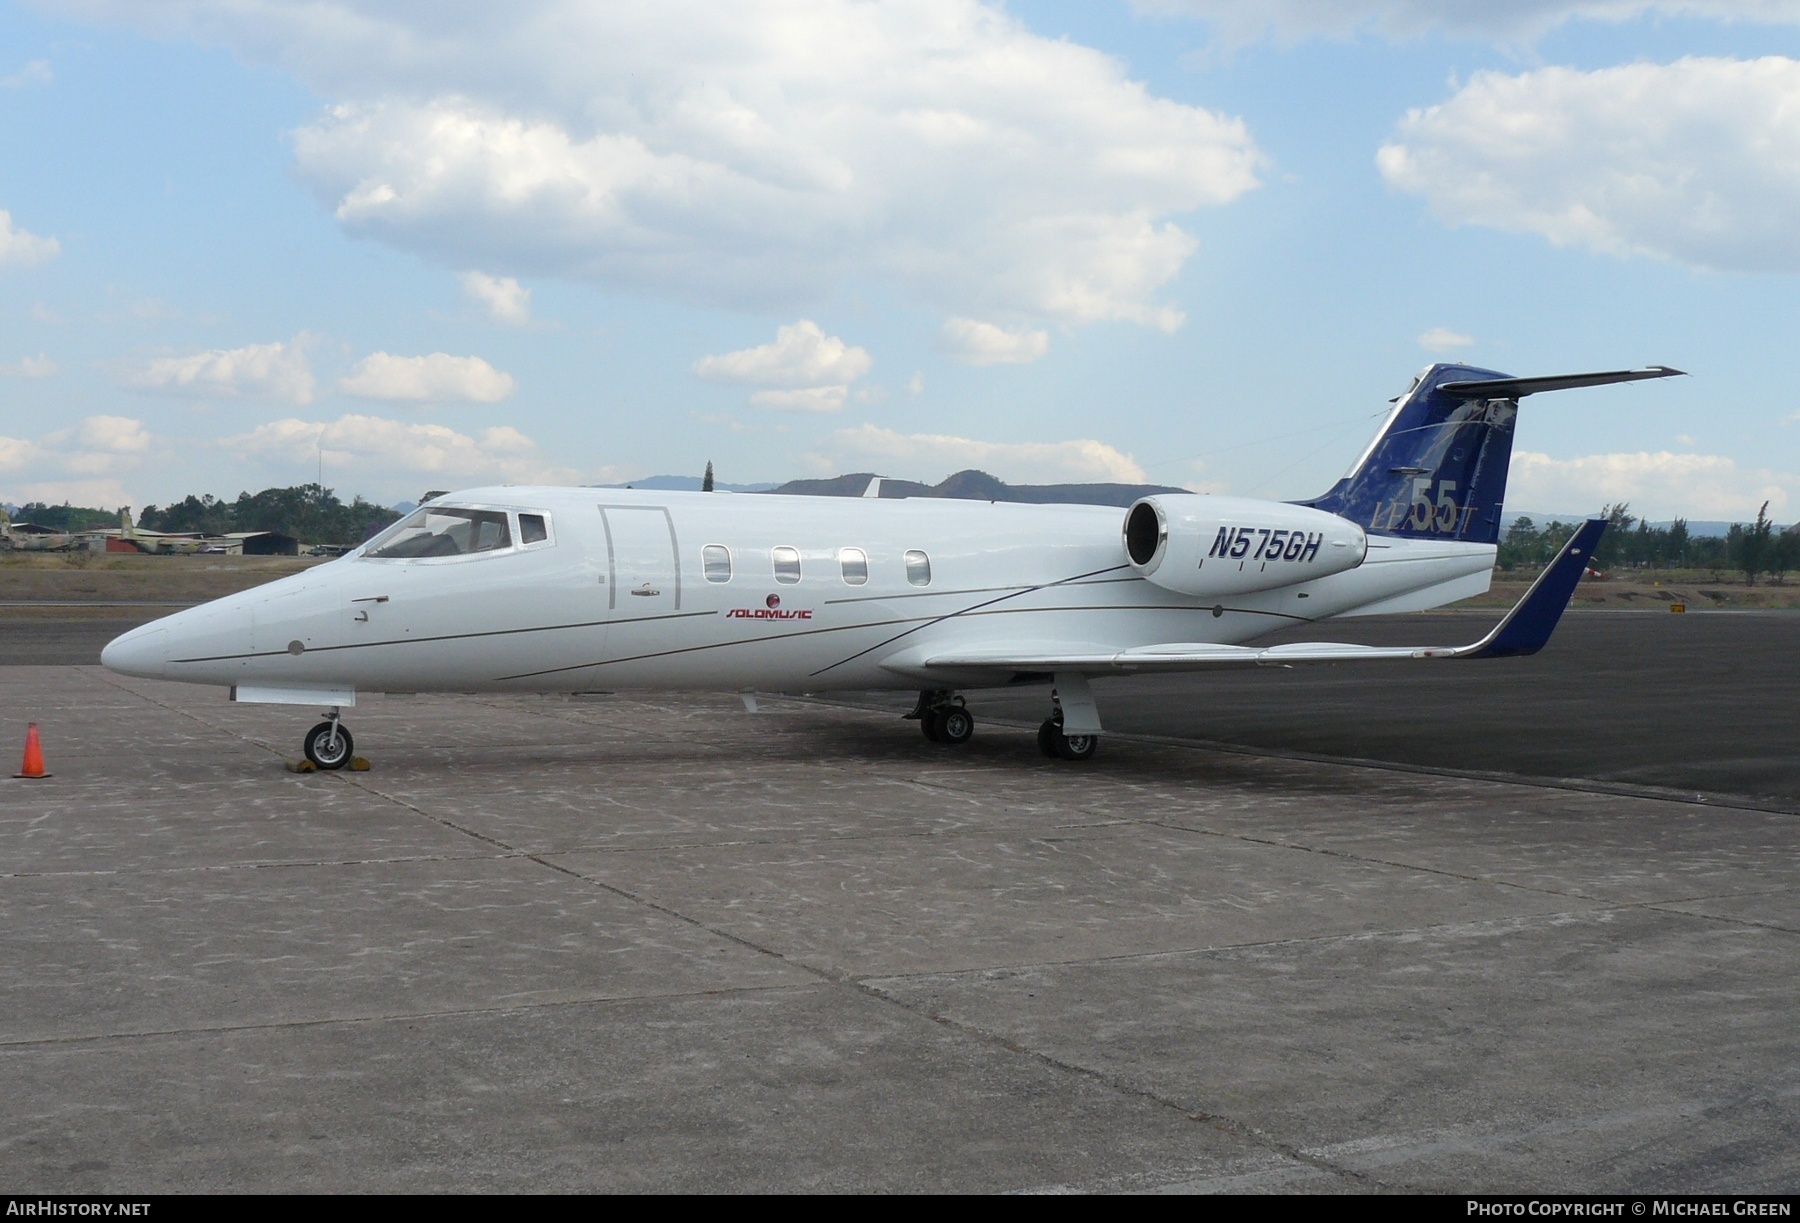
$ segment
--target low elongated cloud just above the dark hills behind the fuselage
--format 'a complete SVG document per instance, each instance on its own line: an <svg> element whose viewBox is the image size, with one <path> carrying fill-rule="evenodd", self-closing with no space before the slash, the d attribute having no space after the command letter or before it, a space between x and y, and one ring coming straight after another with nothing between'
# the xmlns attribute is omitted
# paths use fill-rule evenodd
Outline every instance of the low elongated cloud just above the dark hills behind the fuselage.
<svg viewBox="0 0 1800 1223"><path fill-rule="evenodd" d="M846 467L882 465L916 479L941 479L963 468L981 468L1012 485L1057 483L1145 483L1143 468L1129 454L1103 441L977 441L950 434L902 434L878 425L839 429L824 441L826 463Z"/></svg>

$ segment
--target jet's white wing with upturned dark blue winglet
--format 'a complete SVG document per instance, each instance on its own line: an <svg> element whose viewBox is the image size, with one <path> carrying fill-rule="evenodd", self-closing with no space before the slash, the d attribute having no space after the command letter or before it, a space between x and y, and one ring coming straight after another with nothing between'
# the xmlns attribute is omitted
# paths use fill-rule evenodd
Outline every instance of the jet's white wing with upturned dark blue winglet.
<svg viewBox="0 0 1800 1223"><path fill-rule="evenodd" d="M1575 584L1580 582L1593 555L1593 546L1606 531L1606 521L1589 519L1555 560L1544 567L1512 611L1480 641L1469 645L1343 645L1337 641L1296 641L1253 648L1244 645L1210 645L1201 641L1172 641L1166 645L1139 645L1129 650L1058 648L1055 645L1022 647L947 647L923 657L907 659L907 672L1066 672L1103 675L1109 672L1188 672L1213 666L1292 666L1296 663L1363 663L1393 659L1438 657L1514 657L1537 654L1550 641L1562 611L1568 607Z"/></svg>

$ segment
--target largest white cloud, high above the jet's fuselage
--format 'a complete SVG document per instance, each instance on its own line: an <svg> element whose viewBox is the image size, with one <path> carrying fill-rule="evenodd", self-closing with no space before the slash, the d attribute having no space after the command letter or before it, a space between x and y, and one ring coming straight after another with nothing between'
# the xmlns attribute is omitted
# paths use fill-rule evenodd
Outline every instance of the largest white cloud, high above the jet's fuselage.
<svg viewBox="0 0 1800 1223"><path fill-rule="evenodd" d="M1256 186L1244 124L979 0L86 0L333 104L297 173L452 267L801 310L1179 321L1177 218Z"/></svg>

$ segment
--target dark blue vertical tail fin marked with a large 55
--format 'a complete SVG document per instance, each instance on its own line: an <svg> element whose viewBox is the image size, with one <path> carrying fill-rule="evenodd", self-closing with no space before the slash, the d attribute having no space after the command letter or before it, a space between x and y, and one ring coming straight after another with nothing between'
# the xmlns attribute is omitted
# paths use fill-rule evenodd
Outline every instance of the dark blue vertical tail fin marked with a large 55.
<svg viewBox="0 0 1800 1223"><path fill-rule="evenodd" d="M1494 380L1501 385L1492 398L1444 389ZM1507 375L1492 369L1431 366L1400 396L1355 468L1303 504L1350 519L1372 535L1498 544L1519 412L1507 389Z"/></svg>

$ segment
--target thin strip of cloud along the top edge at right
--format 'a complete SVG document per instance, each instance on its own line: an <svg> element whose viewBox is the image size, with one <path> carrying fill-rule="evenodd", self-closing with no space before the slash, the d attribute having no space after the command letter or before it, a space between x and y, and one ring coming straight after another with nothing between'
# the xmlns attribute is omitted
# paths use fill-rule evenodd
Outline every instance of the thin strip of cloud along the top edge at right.
<svg viewBox="0 0 1800 1223"><path fill-rule="evenodd" d="M1260 38L1417 38L1528 41L1566 22L1697 16L1800 23L1800 0L1130 0L1139 13L1208 22L1229 45Z"/></svg>

